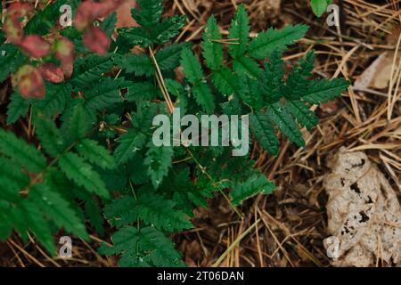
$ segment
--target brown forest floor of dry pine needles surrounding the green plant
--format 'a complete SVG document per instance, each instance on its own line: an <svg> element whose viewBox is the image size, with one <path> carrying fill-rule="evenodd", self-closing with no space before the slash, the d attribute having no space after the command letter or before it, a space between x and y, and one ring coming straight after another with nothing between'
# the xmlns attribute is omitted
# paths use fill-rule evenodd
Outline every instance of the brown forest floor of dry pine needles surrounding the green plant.
<svg viewBox="0 0 401 285"><path fill-rule="evenodd" d="M185 13L188 24L180 37L199 43L209 15L217 17L226 34L240 2L250 12L254 32L287 24L310 26L307 37L285 54L289 67L315 49L316 77L362 78L336 101L316 108L321 121L304 132L305 148L282 138L280 154L271 157L253 146L255 167L277 185L274 194L244 203L243 219L216 195L210 208L196 211L195 228L178 234L176 245L190 266L328 266L323 178L330 172L327 161L340 147L364 151L401 198L401 1L344 0L340 27L328 27L327 14L315 17L304 0L169 0L167 12ZM77 257L67 262L46 256L33 242L10 239L8 248L0 248L10 258L0 265L116 265L96 254L99 241L95 236L91 243L74 240Z"/></svg>

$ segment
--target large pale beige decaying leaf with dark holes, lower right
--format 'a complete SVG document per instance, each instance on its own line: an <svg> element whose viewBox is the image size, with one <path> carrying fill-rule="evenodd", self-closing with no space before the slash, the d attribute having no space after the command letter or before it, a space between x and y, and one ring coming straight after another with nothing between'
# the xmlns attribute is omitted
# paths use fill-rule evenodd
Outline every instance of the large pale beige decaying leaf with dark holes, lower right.
<svg viewBox="0 0 401 285"><path fill-rule="evenodd" d="M340 150L324 179L329 195L323 241L334 266L401 265L401 209L384 175L363 152Z"/></svg>

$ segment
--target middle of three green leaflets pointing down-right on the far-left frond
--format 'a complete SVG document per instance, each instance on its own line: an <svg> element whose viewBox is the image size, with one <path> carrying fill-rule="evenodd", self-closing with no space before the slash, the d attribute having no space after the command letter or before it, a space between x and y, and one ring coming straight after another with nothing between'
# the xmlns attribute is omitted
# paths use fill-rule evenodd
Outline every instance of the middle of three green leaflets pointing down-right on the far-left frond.
<svg viewBox="0 0 401 285"><path fill-rule="evenodd" d="M72 152L64 154L59 160L59 167L70 180L84 187L86 191L102 198L109 198L109 191L107 191L100 175L78 155Z"/></svg>

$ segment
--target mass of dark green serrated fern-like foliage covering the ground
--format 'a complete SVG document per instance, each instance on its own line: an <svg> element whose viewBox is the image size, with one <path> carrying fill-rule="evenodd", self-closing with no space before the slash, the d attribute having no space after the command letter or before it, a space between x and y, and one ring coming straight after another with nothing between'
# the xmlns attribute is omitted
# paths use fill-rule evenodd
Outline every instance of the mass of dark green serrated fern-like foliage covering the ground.
<svg viewBox="0 0 401 285"><path fill-rule="evenodd" d="M25 32L46 35L61 3L37 12ZM69 3L75 8L80 1ZM190 44L169 44L184 26L183 16L163 17L161 0L137 4L132 14L140 27L119 28L112 53L88 53L82 33L63 28L76 45L71 77L46 83L42 99L13 91L7 124L23 124L19 129L26 132L17 137L0 130L0 240L12 231L27 240L29 232L54 254L55 232L87 240L90 224L97 234L113 232L112 245L102 244L99 252L119 256L121 266L182 266L170 238L192 228L195 208L208 207L220 191L230 191L231 204L241 206L274 191L274 183L253 169L248 156L233 157L232 145L155 146L153 118L168 115L165 97L182 115L250 115L251 137L277 155L279 132L305 146L300 128L318 123L312 105L348 87L343 78L311 79L313 53L291 69L282 61L282 52L304 37L305 25L269 28L250 39L241 4L228 38L209 18L198 57ZM109 36L115 23L115 13L96 21ZM1 38L1 81L27 61L38 64ZM132 53L135 45L143 53Z"/></svg>

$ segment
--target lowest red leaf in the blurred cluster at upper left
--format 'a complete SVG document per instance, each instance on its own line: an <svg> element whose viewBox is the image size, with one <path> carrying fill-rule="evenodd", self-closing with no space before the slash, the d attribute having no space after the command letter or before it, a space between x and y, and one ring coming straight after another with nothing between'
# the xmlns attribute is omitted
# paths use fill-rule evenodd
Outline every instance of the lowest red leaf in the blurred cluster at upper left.
<svg viewBox="0 0 401 285"><path fill-rule="evenodd" d="M21 67L17 74L20 94L25 98L44 98L45 85L39 71L30 65Z"/></svg>

